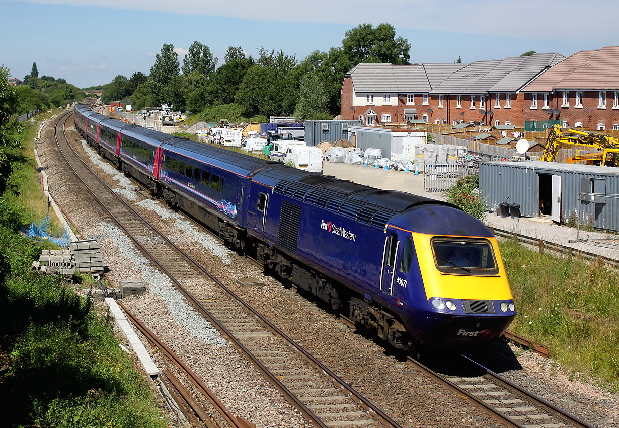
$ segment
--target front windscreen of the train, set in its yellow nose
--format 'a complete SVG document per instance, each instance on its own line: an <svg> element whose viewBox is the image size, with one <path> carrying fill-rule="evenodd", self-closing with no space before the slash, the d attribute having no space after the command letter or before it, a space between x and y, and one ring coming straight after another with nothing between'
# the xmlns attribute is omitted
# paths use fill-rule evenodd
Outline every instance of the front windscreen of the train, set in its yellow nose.
<svg viewBox="0 0 619 428"><path fill-rule="evenodd" d="M436 268L444 273L498 274L495 254L485 239L432 238Z"/></svg>

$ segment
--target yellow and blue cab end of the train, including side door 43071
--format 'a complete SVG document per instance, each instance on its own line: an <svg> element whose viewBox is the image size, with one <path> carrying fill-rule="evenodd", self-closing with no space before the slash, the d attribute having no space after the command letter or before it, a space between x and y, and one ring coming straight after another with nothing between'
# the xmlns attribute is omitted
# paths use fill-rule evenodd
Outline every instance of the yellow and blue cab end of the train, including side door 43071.
<svg viewBox="0 0 619 428"><path fill-rule="evenodd" d="M397 313L412 343L480 344L516 317L496 238L475 217L449 204L422 203L392 217L384 232L374 297Z"/></svg>

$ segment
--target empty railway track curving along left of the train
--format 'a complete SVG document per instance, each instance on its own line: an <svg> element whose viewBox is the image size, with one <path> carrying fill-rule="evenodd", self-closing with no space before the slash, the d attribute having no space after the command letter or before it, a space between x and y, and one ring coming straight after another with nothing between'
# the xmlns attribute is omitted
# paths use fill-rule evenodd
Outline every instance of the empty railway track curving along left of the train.
<svg viewBox="0 0 619 428"><path fill-rule="evenodd" d="M69 144L54 136L67 164L93 198L131 237L136 246L183 292L212 325L248 357L303 416L317 427L394 427L392 421L360 393L288 338L284 332L219 282L175 243L147 222L79 158Z"/></svg>

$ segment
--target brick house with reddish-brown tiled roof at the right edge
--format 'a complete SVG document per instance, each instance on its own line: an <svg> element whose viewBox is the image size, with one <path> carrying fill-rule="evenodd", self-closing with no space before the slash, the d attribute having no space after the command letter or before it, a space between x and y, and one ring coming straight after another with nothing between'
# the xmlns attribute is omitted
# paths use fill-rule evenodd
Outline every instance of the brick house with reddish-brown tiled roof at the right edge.
<svg viewBox="0 0 619 428"><path fill-rule="evenodd" d="M563 128L619 129L619 46L580 51L526 85L524 118Z"/></svg>

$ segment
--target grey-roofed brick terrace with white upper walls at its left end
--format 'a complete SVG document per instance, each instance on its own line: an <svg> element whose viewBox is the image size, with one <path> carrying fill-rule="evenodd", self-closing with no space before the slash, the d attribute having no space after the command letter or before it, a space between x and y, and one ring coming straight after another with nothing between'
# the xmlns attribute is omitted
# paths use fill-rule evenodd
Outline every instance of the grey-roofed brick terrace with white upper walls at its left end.
<svg viewBox="0 0 619 428"><path fill-rule="evenodd" d="M472 64L358 64L344 77L342 119L523 126L522 88L563 59L543 53Z"/></svg>

